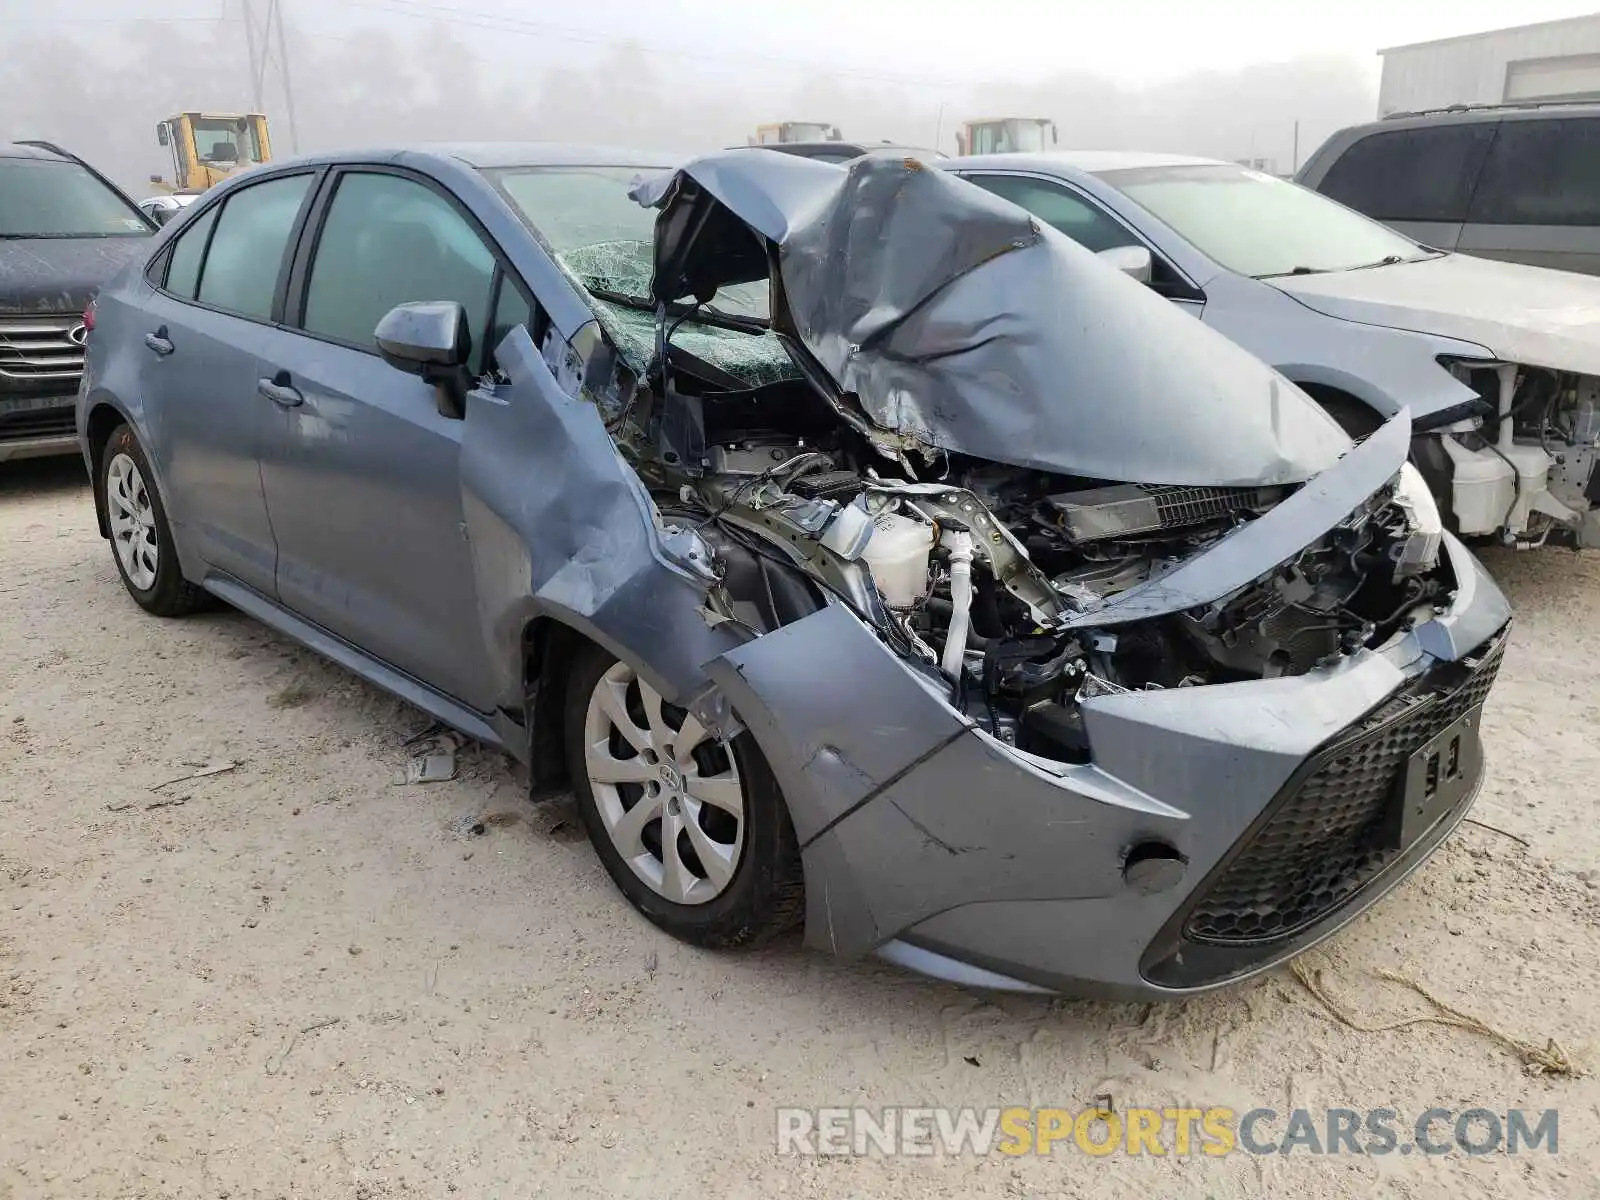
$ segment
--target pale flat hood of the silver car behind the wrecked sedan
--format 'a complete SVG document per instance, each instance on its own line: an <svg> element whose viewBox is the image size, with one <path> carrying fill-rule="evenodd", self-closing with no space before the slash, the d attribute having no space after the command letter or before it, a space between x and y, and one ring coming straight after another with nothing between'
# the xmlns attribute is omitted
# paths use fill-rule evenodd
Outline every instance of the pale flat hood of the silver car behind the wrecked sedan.
<svg viewBox="0 0 1600 1200"><path fill-rule="evenodd" d="M1267 280L1328 317L1477 342L1496 358L1600 374L1600 278L1442 254Z"/></svg>

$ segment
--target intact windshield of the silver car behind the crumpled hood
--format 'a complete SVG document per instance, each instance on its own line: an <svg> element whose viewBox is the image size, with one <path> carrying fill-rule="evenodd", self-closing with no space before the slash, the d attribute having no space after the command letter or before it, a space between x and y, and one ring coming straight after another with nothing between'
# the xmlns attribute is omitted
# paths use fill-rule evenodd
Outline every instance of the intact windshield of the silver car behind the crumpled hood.
<svg viewBox="0 0 1600 1200"><path fill-rule="evenodd" d="M1315 275L1435 253L1317 192L1246 166L1136 166L1099 178L1240 275Z"/></svg>

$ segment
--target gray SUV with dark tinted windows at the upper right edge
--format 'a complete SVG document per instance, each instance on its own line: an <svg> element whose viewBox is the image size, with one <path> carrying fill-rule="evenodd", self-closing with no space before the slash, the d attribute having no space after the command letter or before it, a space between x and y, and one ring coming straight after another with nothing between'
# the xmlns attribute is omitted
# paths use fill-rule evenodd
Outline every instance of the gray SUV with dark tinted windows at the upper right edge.
<svg viewBox="0 0 1600 1200"><path fill-rule="evenodd" d="M1600 275L1600 104L1395 114L1333 134L1296 182L1438 250Z"/></svg>

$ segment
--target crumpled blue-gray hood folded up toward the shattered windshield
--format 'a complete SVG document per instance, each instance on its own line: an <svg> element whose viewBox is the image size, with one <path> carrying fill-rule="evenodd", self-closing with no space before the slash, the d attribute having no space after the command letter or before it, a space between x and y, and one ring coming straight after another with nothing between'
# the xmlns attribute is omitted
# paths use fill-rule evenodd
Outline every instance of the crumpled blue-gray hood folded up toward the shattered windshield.
<svg viewBox="0 0 1600 1200"><path fill-rule="evenodd" d="M1349 438L1299 389L1021 208L915 158L730 150L642 181L658 301L773 275L773 325L877 429L1144 483L1298 483Z"/></svg>

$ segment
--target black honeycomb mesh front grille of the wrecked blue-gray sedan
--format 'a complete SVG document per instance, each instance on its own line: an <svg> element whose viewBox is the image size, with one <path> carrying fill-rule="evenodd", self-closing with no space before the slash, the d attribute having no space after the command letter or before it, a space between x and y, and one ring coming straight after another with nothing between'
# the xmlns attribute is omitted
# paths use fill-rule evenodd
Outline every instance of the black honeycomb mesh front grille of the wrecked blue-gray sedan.
<svg viewBox="0 0 1600 1200"><path fill-rule="evenodd" d="M1290 938L1400 858L1406 848L1386 845L1386 822L1406 762L1483 704L1504 650L1501 634L1472 661L1438 664L1312 755L1205 888L1184 936L1230 946Z"/></svg>

